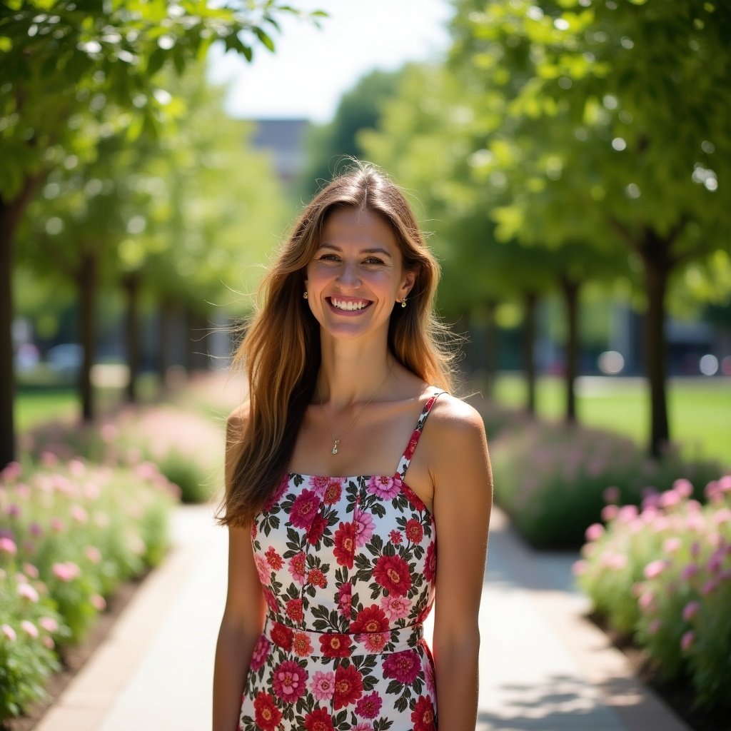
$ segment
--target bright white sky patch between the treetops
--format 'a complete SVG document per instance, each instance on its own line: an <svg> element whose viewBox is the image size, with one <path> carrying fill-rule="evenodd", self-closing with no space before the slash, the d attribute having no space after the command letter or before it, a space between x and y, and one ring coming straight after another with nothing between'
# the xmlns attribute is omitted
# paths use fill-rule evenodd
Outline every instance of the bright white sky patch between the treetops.
<svg viewBox="0 0 731 731"><path fill-rule="evenodd" d="M281 18L276 53L254 50L247 64L235 54L211 55L209 77L227 83L227 112L237 118L333 118L341 95L374 69L429 61L449 45L448 0L292 0L301 10L325 10L321 28Z"/></svg>

